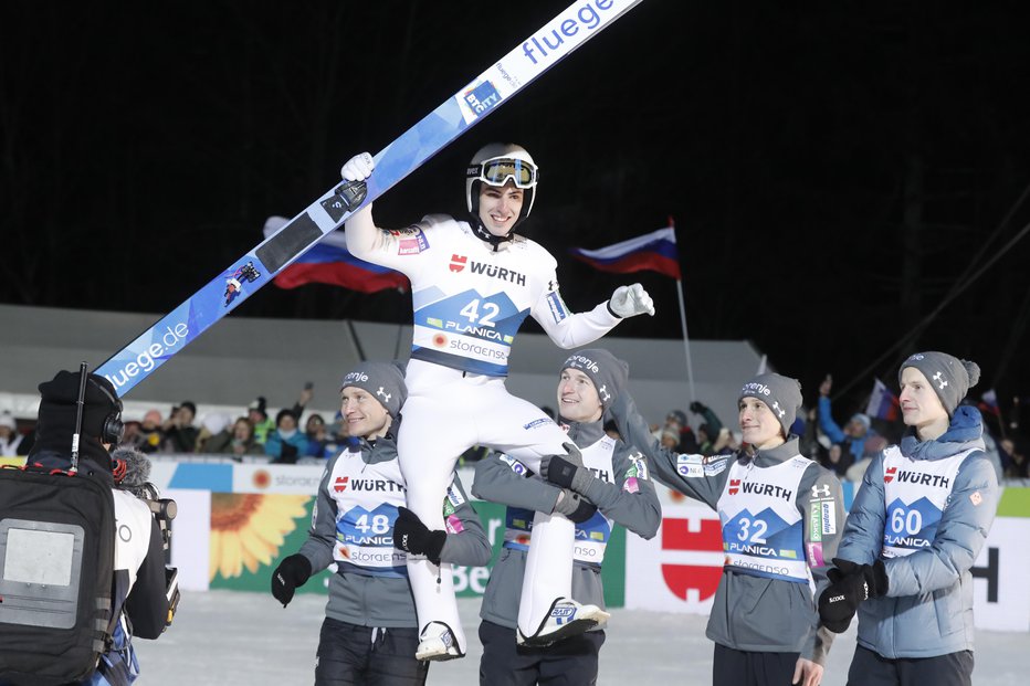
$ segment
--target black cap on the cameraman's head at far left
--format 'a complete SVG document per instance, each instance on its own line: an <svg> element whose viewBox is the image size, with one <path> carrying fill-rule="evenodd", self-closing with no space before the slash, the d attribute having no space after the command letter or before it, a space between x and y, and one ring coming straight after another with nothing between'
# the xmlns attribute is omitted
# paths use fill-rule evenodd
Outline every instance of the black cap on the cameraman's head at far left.
<svg viewBox="0 0 1030 686"><path fill-rule="evenodd" d="M81 379L77 371L59 371L53 380L40 383L36 439L29 453L30 462L36 453L42 452L71 455ZM120 412L122 401L111 381L97 374L88 374L82 409L80 453L107 469L111 468L111 456L101 444L101 436L107 418L120 416Z"/></svg>

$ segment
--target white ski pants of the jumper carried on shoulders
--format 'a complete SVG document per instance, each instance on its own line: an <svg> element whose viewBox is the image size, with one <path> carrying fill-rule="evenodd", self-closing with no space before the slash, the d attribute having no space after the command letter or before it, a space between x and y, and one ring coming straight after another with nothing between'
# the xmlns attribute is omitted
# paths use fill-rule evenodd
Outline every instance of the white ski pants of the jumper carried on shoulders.
<svg viewBox="0 0 1030 686"><path fill-rule="evenodd" d="M542 456L565 454L565 432L539 408L509 394L503 378L411 360L407 386L397 448L408 508L430 529L444 528L441 507L454 465L473 445L503 451L534 472L539 472ZM518 608L518 627L526 636L536 633L555 599L571 598L575 536L565 517L536 514ZM425 558L409 556L408 576L419 629L445 622L465 652L451 566L443 563L438 570Z"/></svg>

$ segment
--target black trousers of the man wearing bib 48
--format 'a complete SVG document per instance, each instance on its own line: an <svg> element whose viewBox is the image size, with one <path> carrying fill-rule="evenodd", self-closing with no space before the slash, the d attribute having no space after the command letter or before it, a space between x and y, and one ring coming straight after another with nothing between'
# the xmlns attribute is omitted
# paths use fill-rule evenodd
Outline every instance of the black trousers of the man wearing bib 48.
<svg viewBox="0 0 1030 686"><path fill-rule="evenodd" d="M429 663L414 658L419 632L322 623L315 686L422 686Z"/></svg>

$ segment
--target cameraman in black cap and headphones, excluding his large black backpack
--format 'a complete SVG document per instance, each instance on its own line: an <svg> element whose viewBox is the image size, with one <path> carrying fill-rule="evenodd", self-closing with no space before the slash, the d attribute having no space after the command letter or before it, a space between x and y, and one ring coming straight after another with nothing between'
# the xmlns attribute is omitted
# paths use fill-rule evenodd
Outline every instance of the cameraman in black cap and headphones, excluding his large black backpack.
<svg viewBox="0 0 1030 686"><path fill-rule="evenodd" d="M28 464L52 469L71 466L80 380L78 373L60 371L52 381L40 384L38 436L27 457ZM113 440L120 433L122 402L107 379L88 376L82 413L78 472L109 483L114 495L117 531L112 531L115 536L112 616L118 621L96 672L81 683L127 686L139 674L132 638L157 638L169 619L161 529L150 507L122 487L146 482L147 457L133 448L123 448L122 460L116 463L108 452L111 443L102 443L105 437Z"/></svg>

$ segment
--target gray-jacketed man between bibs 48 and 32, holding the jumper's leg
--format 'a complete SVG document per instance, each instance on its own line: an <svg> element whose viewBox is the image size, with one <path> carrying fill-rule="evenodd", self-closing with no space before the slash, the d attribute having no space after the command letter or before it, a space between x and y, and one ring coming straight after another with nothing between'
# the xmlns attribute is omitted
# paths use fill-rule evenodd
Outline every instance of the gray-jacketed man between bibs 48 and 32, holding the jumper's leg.
<svg viewBox="0 0 1030 686"><path fill-rule="evenodd" d="M569 442L575 444L567 444L567 448L570 454L580 453L582 466L566 456L545 457L542 471L564 479L566 487L542 481L514 457L500 453L476 464L473 495L508 506L504 548L480 610L483 686L597 683L598 652L605 643L602 630L547 647L527 647L516 645L515 627L535 513L559 511L577 523L576 540L569 551L575 563L572 598L599 608L605 606L601 563L614 524L644 538L658 531L662 510L643 455L608 436L601 421L616 389L624 386L627 373L626 362L601 349L580 350L563 365L557 391L559 414ZM558 460L570 468L558 469ZM597 478L577 478L577 473L586 469Z"/></svg>

